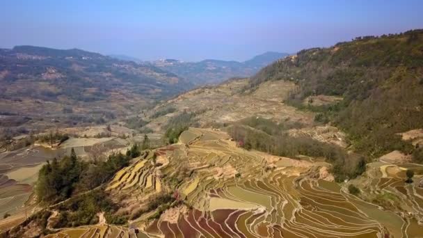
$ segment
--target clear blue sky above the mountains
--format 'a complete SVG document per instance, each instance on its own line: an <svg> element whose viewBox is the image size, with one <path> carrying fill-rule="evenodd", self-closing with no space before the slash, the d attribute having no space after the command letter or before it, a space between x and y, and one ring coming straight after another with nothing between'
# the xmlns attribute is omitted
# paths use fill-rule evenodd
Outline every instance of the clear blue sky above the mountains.
<svg viewBox="0 0 423 238"><path fill-rule="evenodd" d="M0 47L246 61L423 28L422 0L1 0Z"/></svg>

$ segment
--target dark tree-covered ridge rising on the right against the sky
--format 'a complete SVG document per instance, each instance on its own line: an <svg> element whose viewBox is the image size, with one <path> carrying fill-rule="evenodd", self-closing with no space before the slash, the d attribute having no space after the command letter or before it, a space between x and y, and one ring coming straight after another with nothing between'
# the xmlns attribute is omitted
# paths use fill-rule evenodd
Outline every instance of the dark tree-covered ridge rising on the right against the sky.
<svg viewBox="0 0 423 238"><path fill-rule="evenodd" d="M423 127L423 30L299 51L261 70L247 89L269 80L295 81L298 89L287 103L318 111L317 120L344 129L356 150L372 157L402 150L423 161L422 149L396 135ZM304 106L312 95L343 100Z"/></svg>

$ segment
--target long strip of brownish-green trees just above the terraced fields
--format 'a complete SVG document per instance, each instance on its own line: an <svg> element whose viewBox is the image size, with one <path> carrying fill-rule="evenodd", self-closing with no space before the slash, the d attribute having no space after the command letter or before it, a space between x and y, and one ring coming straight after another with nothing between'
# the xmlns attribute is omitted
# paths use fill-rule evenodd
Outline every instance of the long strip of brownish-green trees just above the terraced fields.
<svg viewBox="0 0 423 238"><path fill-rule="evenodd" d="M250 120L247 120L247 122L250 122ZM250 123L250 125L252 124ZM337 181L357 177L365 171L365 158L360 154L348 154L340 147L319 142L312 138L289 136L282 130L278 131L278 129L284 128L283 126L270 120L257 119L257 124L253 125L271 134L245 125L233 125L228 128L228 132L246 150L260 150L282 157L296 157L300 154L310 157L324 157L326 161L333 164L332 172Z"/></svg>

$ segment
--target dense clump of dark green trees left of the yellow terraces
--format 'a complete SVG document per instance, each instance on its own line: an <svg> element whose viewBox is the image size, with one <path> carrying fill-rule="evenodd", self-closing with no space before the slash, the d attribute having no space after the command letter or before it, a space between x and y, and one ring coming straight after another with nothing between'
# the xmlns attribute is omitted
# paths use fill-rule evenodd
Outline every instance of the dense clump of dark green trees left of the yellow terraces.
<svg viewBox="0 0 423 238"><path fill-rule="evenodd" d="M53 159L42 166L35 187L38 200L57 203L75 193L94 189L127 166L130 159L131 156L111 154L106 161L86 162L78 159L72 149L69 157Z"/></svg>

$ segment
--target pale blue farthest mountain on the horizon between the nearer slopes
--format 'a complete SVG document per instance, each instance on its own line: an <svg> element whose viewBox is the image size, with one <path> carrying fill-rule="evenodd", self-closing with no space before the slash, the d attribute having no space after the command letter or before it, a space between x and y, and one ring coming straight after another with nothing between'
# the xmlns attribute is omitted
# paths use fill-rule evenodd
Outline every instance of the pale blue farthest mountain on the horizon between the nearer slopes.
<svg viewBox="0 0 423 238"><path fill-rule="evenodd" d="M214 59L200 62L183 62L174 59L163 59L152 62L152 65L184 77L193 84L218 84L232 77L252 76L264 66L285 56L288 56L288 54L266 52L245 62Z"/></svg>

